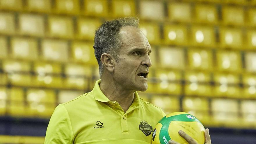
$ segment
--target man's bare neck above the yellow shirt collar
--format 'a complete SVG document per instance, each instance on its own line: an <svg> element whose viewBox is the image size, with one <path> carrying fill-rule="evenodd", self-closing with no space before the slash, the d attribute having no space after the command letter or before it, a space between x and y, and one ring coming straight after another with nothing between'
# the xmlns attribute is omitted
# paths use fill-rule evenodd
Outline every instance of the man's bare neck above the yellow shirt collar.
<svg viewBox="0 0 256 144"><path fill-rule="evenodd" d="M118 102L124 112L126 112L131 106L135 91L126 90L113 79L108 79L108 77L101 78L99 88L110 101Z"/></svg>

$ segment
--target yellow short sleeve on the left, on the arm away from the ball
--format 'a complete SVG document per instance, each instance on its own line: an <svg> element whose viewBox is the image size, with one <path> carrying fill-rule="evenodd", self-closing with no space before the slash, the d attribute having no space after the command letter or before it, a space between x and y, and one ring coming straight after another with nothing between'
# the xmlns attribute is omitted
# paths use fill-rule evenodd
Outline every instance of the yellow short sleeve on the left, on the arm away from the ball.
<svg viewBox="0 0 256 144"><path fill-rule="evenodd" d="M45 144L72 144L74 134L66 108L58 105L54 110L46 130Z"/></svg>

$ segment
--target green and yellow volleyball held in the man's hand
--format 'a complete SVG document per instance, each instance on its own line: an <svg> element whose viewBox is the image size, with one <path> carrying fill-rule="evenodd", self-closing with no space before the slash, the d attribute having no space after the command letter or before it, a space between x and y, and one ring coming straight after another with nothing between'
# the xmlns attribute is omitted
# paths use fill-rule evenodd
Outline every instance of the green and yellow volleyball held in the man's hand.
<svg viewBox="0 0 256 144"><path fill-rule="evenodd" d="M188 144L178 132L184 131L198 144L205 143L205 127L193 115L185 112L174 112L163 117L152 134L152 144L168 144L169 140L180 144Z"/></svg>

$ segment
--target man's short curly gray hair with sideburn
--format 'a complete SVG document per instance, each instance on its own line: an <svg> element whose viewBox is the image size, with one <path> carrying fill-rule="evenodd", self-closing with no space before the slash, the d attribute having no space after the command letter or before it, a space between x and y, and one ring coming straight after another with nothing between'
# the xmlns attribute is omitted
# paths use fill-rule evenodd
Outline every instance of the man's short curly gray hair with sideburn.
<svg viewBox="0 0 256 144"><path fill-rule="evenodd" d="M115 60L119 61L119 50L122 45L120 29L124 26L139 27L137 17L125 17L104 22L95 32L94 54L99 64L99 76L101 78L104 67L100 57L104 53L111 54Z"/></svg>

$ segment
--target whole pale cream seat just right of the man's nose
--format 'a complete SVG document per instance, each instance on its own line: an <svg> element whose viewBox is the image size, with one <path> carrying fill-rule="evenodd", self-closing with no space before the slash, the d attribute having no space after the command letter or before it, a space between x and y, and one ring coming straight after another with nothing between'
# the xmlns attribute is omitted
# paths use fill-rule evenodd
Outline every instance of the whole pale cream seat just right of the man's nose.
<svg viewBox="0 0 256 144"><path fill-rule="evenodd" d="M185 67L184 50L181 48L161 47L159 61L161 67L183 69Z"/></svg>

